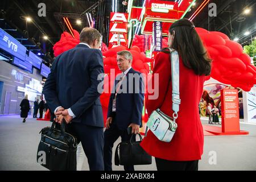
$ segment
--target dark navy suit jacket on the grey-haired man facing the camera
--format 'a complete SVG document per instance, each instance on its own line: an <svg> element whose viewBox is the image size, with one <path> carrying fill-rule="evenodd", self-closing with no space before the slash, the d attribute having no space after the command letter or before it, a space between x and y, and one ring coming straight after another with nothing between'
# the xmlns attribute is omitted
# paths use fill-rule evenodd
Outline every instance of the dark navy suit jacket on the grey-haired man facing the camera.
<svg viewBox="0 0 256 182"><path fill-rule="evenodd" d="M121 75L119 75L119 77L120 76ZM138 83L136 85L135 85L135 78L130 76L140 76ZM118 80L119 78L115 80L115 85L118 84ZM142 126L144 82L143 82L141 73L134 71L134 69L131 68L127 73L126 77L123 78L120 89L124 89L123 86L125 84L127 86L127 93L117 94L115 120L114 120L115 122L117 122L117 126L121 130L127 129L130 123L135 123L139 126ZM133 87L131 87L131 85ZM113 106L113 98L115 96L115 93L113 93L115 92L114 90L115 90L115 87L113 88L113 91L109 100L108 117L113 117L112 106ZM130 93L129 90L132 90L133 92Z"/></svg>

